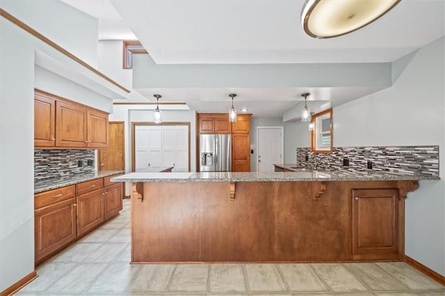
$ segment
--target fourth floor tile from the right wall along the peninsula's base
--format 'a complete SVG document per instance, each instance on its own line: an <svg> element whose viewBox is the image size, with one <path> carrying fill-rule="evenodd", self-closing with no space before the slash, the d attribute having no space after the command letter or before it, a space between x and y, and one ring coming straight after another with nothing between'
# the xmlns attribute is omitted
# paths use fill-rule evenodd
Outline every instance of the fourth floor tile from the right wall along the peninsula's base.
<svg viewBox="0 0 445 296"><path fill-rule="evenodd" d="M277 265L291 291L328 291L309 264Z"/></svg>

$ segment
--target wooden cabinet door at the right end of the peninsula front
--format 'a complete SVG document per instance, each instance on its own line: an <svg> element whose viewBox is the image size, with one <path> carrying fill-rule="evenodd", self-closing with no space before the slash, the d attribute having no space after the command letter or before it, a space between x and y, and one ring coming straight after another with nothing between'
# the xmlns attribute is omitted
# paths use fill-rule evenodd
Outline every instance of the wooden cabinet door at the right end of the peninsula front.
<svg viewBox="0 0 445 296"><path fill-rule="evenodd" d="M403 258L403 206L398 189L353 190L353 258Z"/></svg>

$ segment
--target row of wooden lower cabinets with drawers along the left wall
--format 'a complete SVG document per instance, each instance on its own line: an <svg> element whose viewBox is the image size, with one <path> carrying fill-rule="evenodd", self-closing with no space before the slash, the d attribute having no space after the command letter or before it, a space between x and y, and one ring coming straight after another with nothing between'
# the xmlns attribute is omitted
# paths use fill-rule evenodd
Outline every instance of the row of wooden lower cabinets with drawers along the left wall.
<svg viewBox="0 0 445 296"><path fill-rule="evenodd" d="M114 176L34 195L35 264L119 214L123 183Z"/></svg>

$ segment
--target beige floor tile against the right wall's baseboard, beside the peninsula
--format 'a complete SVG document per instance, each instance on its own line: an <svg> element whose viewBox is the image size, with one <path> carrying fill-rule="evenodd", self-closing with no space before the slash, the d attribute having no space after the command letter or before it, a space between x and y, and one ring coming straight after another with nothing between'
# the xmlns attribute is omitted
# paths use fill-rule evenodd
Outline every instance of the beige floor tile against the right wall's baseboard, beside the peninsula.
<svg viewBox="0 0 445 296"><path fill-rule="evenodd" d="M414 269L404 262L377 263L381 268L389 272L393 277L405 283L412 290L428 290L445 288L437 281L430 279L425 274Z"/></svg>

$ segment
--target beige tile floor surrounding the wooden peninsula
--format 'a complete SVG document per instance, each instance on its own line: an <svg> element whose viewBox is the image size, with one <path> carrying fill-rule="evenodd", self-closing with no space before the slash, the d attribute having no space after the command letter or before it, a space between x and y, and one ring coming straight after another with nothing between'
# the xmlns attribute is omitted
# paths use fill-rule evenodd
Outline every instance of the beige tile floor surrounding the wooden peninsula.
<svg viewBox="0 0 445 296"><path fill-rule="evenodd" d="M41 265L19 295L428 295L405 263L130 265L129 200L115 219Z"/></svg>

